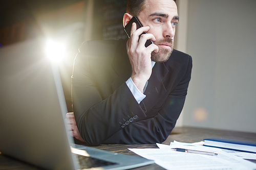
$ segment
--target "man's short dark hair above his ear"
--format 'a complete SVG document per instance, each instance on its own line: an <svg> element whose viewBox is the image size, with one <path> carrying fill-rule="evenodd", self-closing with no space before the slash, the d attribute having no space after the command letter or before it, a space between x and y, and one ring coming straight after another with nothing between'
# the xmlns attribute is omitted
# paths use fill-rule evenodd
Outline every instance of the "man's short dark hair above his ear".
<svg viewBox="0 0 256 170"><path fill-rule="evenodd" d="M174 0L176 2L176 0ZM145 0L127 0L126 13L138 16L144 8Z"/></svg>

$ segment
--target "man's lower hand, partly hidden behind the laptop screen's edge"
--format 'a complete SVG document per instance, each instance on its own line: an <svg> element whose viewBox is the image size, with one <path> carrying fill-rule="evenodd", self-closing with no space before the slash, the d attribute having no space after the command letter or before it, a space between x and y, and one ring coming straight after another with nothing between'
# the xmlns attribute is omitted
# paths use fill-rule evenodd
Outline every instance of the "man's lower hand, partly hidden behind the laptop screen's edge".
<svg viewBox="0 0 256 170"><path fill-rule="evenodd" d="M76 139L84 142L84 140L82 139L82 137L77 129L74 113L67 113L65 120L66 120L66 126L68 127L70 135L72 137L75 137Z"/></svg>

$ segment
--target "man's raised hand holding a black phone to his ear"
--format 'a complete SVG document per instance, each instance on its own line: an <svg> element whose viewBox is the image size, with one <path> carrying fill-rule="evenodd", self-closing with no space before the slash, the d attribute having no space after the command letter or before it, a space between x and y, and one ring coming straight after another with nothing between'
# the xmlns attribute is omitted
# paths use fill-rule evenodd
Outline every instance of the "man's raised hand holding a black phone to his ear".
<svg viewBox="0 0 256 170"><path fill-rule="evenodd" d="M130 63L132 66L131 79L136 85L136 87L141 92L143 92L143 88L147 80L150 79L150 76L152 74L151 54L153 51L155 53L158 52L158 46L155 44L151 45L153 44L153 41L151 39L148 39L152 38L153 40L155 40L153 34L148 34L147 36L145 36L147 38L143 38L143 43L146 42L144 45L143 43L136 43L136 41L138 40L138 38L141 37L142 34L146 34L143 31L148 31L150 29L149 27L141 28L142 25L137 17L132 17L131 20L127 23L127 25L124 27L124 31L126 32L129 38L131 38L131 30L135 31L134 27L132 29L133 22L136 23L137 29L140 29L141 31L139 30L134 32L133 34L135 34L138 37L134 37L133 40L129 39L127 41L127 55L129 56Z"/></svg>

